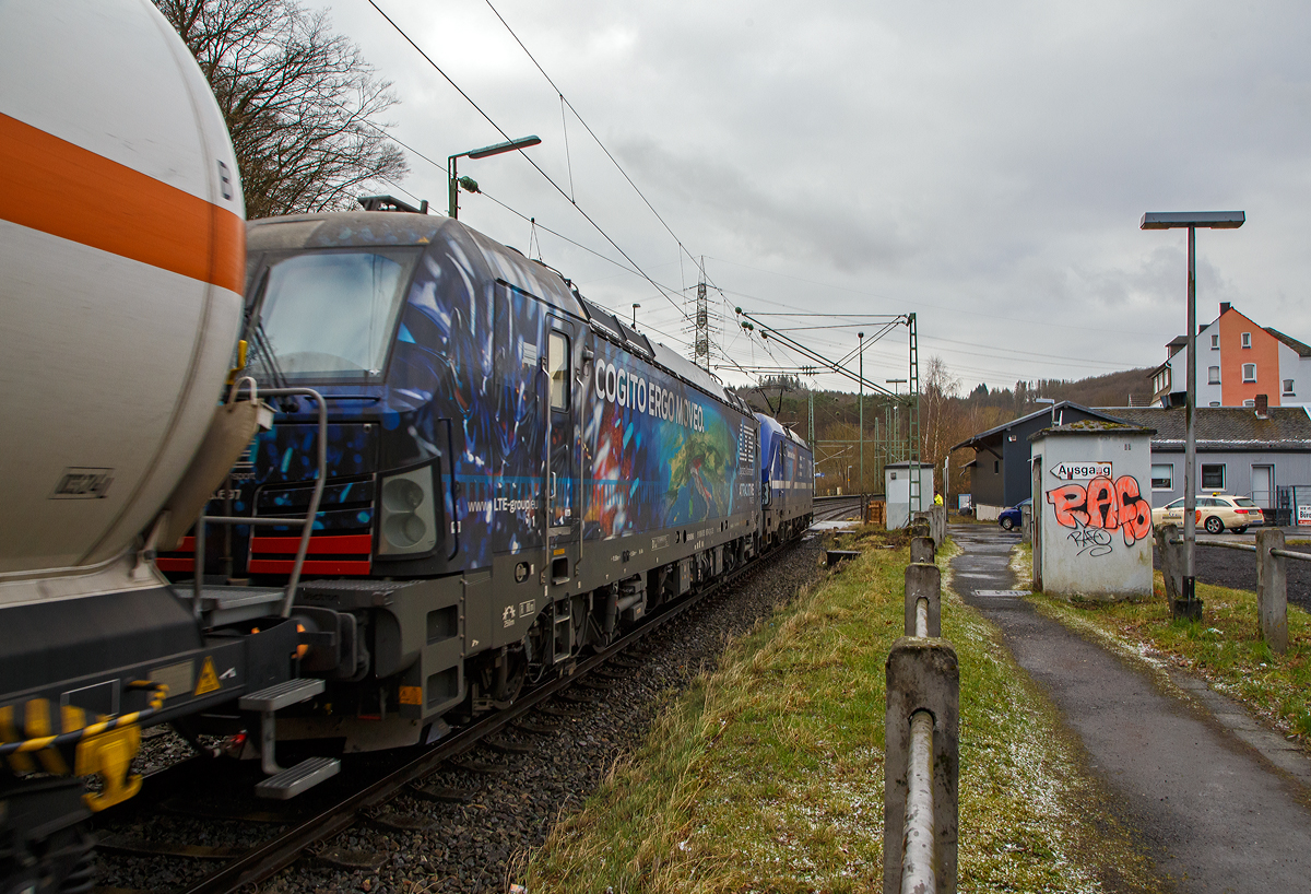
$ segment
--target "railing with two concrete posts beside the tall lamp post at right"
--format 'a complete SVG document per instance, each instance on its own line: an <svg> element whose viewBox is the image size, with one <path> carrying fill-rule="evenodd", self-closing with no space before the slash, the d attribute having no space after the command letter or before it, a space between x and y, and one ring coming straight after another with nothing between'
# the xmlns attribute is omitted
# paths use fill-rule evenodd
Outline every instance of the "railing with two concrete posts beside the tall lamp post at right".
<svg viewBox="0 0 1311 894"><path fill-rule="evenodd" d="M1196 544L1214 549L1235 549L1256 556L1256 613L1261 628L1261 640L1272 651L1287 651L1289 577L1286 561L1311 562L1311 553L1285 549L1283 531L1280 528L1259 530L1256 543L1198 537ZM1160 549L1165 596L1173 604L1181 591L1184 574L1184 556L1183 549L1180 549L1184 545L1184 537L1179 535L1179 526L1167 524L1158 531L1156 545Z"/></svg>

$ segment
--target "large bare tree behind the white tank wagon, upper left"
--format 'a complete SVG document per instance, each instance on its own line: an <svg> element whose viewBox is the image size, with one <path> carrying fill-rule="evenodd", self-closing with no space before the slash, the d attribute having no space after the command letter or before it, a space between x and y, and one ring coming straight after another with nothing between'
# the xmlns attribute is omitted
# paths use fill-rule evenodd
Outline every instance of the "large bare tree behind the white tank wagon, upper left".
<svg viewBox="0 0 1311 894"><path fill-rule="evenodd" d="M155 0L223 110L246 216L354 206L408 172L378 117L396 104L326 13L296 0ZM374 191L374 190L370 190Z"/></svg>

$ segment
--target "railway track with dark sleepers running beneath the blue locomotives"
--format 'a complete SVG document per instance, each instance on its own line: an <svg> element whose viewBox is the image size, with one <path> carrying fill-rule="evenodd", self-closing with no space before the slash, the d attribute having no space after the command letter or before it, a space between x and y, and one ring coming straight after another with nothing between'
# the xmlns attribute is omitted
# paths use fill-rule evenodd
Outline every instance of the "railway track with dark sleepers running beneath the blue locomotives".
<svg viewBox="0 0 1311 894"><path fill-rule="evenodd" d="M825 506L822 511L850 513L851 507L856 505L859 503L852 498L847 498L842 503L830 501L830 505ZM760 570L767 570L768 565L780 561L793 548L792 545L783 547L766 557L764 561L753 562L694 598L670 606L642 627L611 644L604 651L579 661L570 674L523 693L510 708L458 730L422 754L413 755L412 752L412 756L402 766L385 772L378 769L353 772L351 777L363 779L363 784L357 781L354 787L343 785L337 797L323 798L313 805L313 809L305 810L298 805L291 811L284 811L284 807L290 805L258 805L236 810L233 815L227 817L229 821L244 822L248 830L249 826L260 823L279 830L262 843L216 845L214 840L222 836L206 832L210 842L207 844L189 843L157 847L151 842L131 840L130 834L114 830L114 834L102 844L102 849L131 852L135 848L138 855L153 853L172 860L191 861L191 869L182 873L184 877L180 878L182 884L174 889L185 890L189 894L215 894L244 889L271 877L307 852L315 856L316 863L333 866L338 872L363 870L367 873L376 868L387 855L371 853L367 852L367 848L364 852L346 852L341 848L326 848L323 843L359 825L374 827L382 825L396 831L405 831L406 823L414 821L405 815L397 815L389 809L389 805L401 796L454 802L472 801L475 797L472 792L431 780L440 777L446 769L451 768L472 773L505 771L503 764L492 766L485 760L471 759L476 747L480 751L510 751L511 755L515 751L541 751L541 748L524 746L522 742L505 742L503 739L506 735L532 738L551 731L558 726L556 721L562 714L568 717L569 708L574 707L572 703L595 701L597 690L603 691L625 671L631 674L629 669L638 667L640 665L632 662L628 655L641 641L674 619L707 606L714 595L726 587ZM536 720L532 718L535 713L538 714ZM395 760L395 755L392 755L392 760ZM194 763L187 762L187 764ZM347 776L345 772L342 775ZM185 787L187 779L195 779L194 766L165 771L152 777L151 788L155 792L143 792L139 796L142 801L136 807L138 815L155 810L185 811L187 805L180 804L180 798L170 797L169 792L176 792L176 785ZM426 779L430 780L427 784L425 784ZM202 807L199 804L194 807L198 814L222 819L218 815L222 811ZM249 835L249 831L246 834ZM195 861L220 863L222 865L202 874L197 872Z"/></svg>

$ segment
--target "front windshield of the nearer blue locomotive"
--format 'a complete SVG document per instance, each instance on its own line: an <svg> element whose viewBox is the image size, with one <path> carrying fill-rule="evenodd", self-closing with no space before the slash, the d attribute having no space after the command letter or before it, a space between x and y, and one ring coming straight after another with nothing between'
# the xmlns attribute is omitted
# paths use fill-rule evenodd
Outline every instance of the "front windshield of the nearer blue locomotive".
<svg viewBox="0 0 1311 894"><path fill-rule="evenodd" d="M379 379L420 252L325 250L270 261L256 299L256 375L286 381Z"/></svg>

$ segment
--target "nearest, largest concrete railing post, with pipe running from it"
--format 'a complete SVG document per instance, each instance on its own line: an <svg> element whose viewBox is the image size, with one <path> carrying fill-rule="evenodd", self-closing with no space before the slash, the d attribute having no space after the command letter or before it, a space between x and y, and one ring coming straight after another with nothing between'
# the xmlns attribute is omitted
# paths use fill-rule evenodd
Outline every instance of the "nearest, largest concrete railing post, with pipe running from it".
<svg viewBox="0 0 1311 894"><path fill-rule="evenodd" d="M956 894L961 674L941 640L903 637L888 655L884 759L884 894L901 894L906 800L910 792L911 716L933 717L932 789L936 891Z"/></svg>

